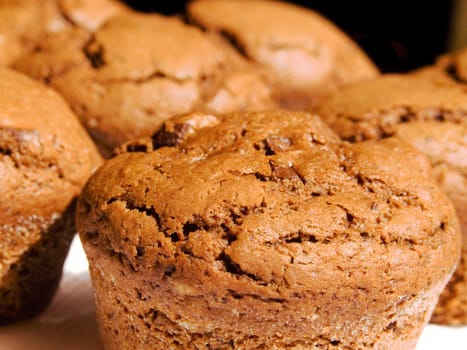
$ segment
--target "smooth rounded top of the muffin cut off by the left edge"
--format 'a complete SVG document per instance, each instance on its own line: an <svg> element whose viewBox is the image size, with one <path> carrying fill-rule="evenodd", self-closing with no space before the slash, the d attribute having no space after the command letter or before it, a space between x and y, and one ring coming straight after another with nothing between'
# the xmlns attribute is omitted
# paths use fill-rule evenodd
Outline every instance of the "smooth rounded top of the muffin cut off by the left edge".
<svg viewBox="0 0 467 350"><path fill-rule="evenodd" d="M0 224L59 215L100 164L97 150L54 91L0 69Z"/></svg>

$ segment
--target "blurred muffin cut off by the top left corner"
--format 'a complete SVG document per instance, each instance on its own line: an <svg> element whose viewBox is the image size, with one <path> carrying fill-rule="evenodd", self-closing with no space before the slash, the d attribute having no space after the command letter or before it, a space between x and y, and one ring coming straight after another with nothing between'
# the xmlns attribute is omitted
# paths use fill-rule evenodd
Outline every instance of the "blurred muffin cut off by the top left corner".
<svg viewBox="0 0 467 350"><path fill-rule="evenodd" d="M33 50L46 32L95 30L124 8L113 0L0 0L0 66Z"/></svg>

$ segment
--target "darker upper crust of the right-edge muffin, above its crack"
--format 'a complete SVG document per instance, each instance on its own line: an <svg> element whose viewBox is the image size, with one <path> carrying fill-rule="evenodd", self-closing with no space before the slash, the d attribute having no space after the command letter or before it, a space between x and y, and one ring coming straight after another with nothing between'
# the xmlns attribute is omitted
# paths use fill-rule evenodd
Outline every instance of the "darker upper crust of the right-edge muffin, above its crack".
<svg viewBox="0 0 467 350"><path fill-rule="evenodd" d="M408 132L420 123L427 130L465 127L467 91L441 76L436 79L435 73L386 74L344 87L315 111L344 140L378 139Z"/></svg>

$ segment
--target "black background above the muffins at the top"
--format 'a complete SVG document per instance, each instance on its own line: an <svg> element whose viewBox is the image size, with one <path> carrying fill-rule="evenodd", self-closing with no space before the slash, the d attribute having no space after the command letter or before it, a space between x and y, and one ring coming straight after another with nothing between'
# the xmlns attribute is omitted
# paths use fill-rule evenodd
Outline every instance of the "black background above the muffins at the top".
<svg viewBox="0 0 467 350"><path fill-rule="evenodd" d="M328 17L355 39L384 72L430 64L447 50L453 0L288 1ZM187 1L128 0L133 8L182 14Z"/></svg>

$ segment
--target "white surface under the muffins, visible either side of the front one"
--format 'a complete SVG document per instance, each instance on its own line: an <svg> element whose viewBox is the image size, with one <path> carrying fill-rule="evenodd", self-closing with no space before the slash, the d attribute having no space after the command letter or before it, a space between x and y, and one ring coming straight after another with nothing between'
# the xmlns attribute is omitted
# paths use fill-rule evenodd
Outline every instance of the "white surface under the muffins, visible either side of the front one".
<svg viewBox="0 0 467 350"><path fill-rule="evenodd" d="M0 327L0 350L102 350L86 257L73 241L59 291L36 319ZM425 328L417 350L467 350L467 327Z"/></svg>

